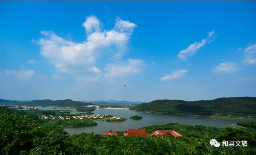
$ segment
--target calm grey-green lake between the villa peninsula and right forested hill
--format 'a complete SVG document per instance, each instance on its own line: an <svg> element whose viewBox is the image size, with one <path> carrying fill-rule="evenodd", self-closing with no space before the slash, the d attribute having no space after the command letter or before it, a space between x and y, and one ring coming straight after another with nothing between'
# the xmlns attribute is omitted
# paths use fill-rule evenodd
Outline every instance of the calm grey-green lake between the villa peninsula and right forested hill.
<svg viewBox="0 0 256 155"><path fill-rule="evenodd" d="M42 107L42 108L47 108L47 107ZM98 134L100 133L104 134L104 131L106 132L106 131L109 131L110 129L113 131L127 131L128 128L135 129L135 128L141 128L143 126L163 125L167 123L176 123L176 122L180 124L207 125L207 126L215 126L215 127L225 127L225 126L236 127L232 124L236 124L237 122L245 122L245 121L256 122L255 119L230 119L230 118L203 117L203 116L162 115L162 114L135 112L134 110L127 110L127 109L103 109L103 110L95 110L93 111L93 113L100 114L100 115L104 115L104 114L113 115L120 118L126 118L127 120L123 122L97 121L98 125L95 125L95 126L69 127L69 128L64 128L64 130L70 134L74 134L74 133L79 134L82 132L86 132L86 133L94 132ZM143 119L133 120L129 118L134 115L142 116Z"/></svg>

